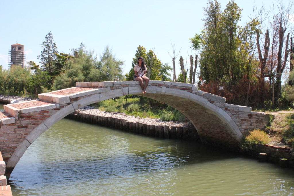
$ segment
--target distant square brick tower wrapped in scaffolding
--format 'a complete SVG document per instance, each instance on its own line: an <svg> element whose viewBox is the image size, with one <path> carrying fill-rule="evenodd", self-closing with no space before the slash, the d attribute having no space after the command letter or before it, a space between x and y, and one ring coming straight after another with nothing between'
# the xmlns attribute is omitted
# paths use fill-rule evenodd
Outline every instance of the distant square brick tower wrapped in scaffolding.
<svg viewBox="0 0 294 196"><path fill-rule="evenodd" d="M24 51L24 45L13 44L11 45L11 50L9 50L9 68L12 66L26 65L26 52Z"/></svg>

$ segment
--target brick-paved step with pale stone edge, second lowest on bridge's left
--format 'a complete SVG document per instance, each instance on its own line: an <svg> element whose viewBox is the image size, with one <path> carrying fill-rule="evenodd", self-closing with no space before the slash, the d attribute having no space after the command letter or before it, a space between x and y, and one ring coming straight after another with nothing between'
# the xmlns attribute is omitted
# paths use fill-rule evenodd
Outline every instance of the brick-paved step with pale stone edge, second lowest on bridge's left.
<svg viewBox="0 0 294 196"><path fill-rule="evenodd" d="M59 108L59 104L45 102L42 100L33 100L33 101L26 101L21 103L4 105L4 111L16 119L18 119L19 114L42 111L47 109L54 109L54 108Z"/></svg>

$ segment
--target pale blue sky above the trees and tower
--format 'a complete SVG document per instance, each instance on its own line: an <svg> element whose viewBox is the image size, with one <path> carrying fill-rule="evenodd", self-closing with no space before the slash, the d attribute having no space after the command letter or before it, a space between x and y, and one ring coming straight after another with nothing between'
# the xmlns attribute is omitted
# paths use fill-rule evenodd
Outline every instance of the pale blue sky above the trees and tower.
<svg viewBox="0 0 294 196"><path fill-rule="evenodd" d="M243 9L240 24L244 24L252 14L253 0L235 2ZM266 9L273 7L272 0L255 0L258 7L263 2ZM220 3L224 9L228 1ZM153 48L162 63L172 66L171 43L176 52L181 49L184 59L189 58L189 38L200 32L206 6L207 1L198 0L2 1L0 65L8 69L8 51L16 43L24 45L26 61L38 63L40 44L51 31L59 52L69 53L83 42L99 56L108 44L116 58L125 62L124 73L131 69L139 45Z"/></svg>

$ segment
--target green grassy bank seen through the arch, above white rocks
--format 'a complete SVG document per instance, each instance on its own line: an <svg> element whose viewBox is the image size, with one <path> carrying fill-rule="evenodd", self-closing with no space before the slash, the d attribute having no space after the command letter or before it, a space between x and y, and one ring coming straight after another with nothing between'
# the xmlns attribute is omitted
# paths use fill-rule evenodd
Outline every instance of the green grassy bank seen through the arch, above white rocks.
<svg viewBox="0 0 294 196"><path fill-rule="evenodd" d="M163 121L186 122L188 119L178 110L164 103L145 97L125 96L108 99L93 104L95 108L106 112L123 112L129 116L142 118L160 118Z"/></svg>

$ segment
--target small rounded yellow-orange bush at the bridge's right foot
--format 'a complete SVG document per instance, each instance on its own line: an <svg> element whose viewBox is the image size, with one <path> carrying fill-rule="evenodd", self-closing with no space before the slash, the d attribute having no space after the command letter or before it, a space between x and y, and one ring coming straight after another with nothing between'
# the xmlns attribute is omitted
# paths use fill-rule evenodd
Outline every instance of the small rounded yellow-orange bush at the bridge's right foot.
<svg viewBox="0 0 294 196"><path fill-rule="evenodd" d="M256 144L267 144L270 142L268 134L260 129L254 129L244 139L244 144L249 149L253 149Z"/></svg>

